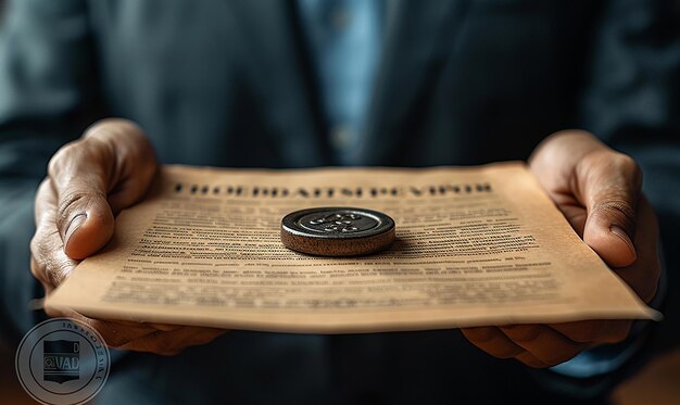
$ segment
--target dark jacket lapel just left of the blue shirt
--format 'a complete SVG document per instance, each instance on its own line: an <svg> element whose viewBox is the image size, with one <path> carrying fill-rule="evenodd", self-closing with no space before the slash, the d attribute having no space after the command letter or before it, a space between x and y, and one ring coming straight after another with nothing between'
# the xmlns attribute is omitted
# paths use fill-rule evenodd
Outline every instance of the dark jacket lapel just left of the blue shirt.
<svg viewBox="0 0 680 405"><path fill-rule="evenodd" d="M305 64L293 5L280 0L237 0L243 72L263 105L285 166L319 166L328 162ZM247 136L245 134L243 136ZM266 148L266 145L263 145Z"/></svg>

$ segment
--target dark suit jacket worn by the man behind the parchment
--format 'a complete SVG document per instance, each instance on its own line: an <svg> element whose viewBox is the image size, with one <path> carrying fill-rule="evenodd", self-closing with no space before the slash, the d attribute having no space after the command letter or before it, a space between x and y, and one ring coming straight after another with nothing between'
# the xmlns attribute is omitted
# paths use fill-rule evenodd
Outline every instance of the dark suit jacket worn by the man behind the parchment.
<svg viewBox="0 0 680 405"><path fill-rule="evenodd" d="M671 230L680 212L679 10L677 1L647 0L389 2L362 162L526 159L551 132L585 128L641 163ZM12 4L0 35L7 339L16 342L40 316L25 309L41 295L28 271L36 185L52 153L96 119L139 123L164 163L338 164L294 11L279 0ZM664 237L672 251L678 238ZM538 401L549 381L541 374L536 384L537 376L456 331L234 332L174 358L116 356L104 402Z"/></svg>

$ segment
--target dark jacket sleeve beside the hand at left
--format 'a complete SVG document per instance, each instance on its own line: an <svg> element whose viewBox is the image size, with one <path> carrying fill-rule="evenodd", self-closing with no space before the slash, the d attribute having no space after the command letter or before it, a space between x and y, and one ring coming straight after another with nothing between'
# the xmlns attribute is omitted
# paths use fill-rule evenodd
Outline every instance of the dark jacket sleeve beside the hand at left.
<svg viewBox="0 0 680 405"><path fill-rule="evenodd" d="M79 0L15 0L0 23L0 337L42 316L29 269L33 200L50 156L97 117L95 55Z"/></svg>

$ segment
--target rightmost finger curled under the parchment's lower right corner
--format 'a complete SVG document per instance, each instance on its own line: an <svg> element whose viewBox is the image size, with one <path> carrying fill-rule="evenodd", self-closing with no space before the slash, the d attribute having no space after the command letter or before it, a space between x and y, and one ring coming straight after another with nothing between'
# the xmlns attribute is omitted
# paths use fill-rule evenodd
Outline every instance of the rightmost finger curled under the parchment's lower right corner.
<svg viewBox="0 0 680 405"><path fill-rule="evenodd" d="M576 322L551 324L569 340L578 343L617 343L628 337L630 320L581 320Z"/></svg>

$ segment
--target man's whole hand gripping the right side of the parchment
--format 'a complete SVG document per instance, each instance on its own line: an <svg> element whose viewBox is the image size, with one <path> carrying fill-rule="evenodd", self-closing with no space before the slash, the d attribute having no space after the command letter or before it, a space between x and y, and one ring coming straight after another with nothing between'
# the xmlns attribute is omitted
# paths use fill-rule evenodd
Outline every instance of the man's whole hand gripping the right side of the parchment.
<svg viewBox="0 0 680 405"><path fill-rule="evenodd" d="M529 160L531 172L581 236L642 300L659 278L656 216L642 195L642 174L627 155L578 130L544 140ZM620 342L630 320L588 320L463 329L487 353L550 367L603 343Z"/></svg>

